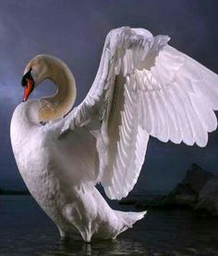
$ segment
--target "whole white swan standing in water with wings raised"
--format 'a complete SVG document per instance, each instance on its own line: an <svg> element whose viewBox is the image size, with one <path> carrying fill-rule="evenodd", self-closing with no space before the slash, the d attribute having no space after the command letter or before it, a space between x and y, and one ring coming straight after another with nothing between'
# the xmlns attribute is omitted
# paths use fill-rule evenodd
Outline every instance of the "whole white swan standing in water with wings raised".
<svg viewBox="0 0 218 256"><path fill-rule="evenodd" d="M167 35L121 27L109 32L95 80L74 107L73 74L60 59L38 55L22 77L23 102L11 120L18 170L61 237L79 232L115 238L146 211L115 211L144 162L149 137L205 147L217 127L218 76L168 45ZM28 99L45 79L54 96Z"/></svg>

